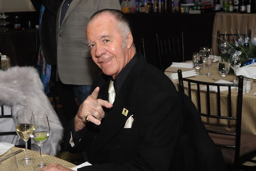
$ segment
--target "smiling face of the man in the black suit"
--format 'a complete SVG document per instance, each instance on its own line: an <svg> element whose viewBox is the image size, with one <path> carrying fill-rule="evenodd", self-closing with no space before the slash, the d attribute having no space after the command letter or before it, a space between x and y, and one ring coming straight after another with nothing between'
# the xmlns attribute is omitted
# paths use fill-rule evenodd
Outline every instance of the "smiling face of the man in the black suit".
<svg viewBox="0 0 256 171"><path fill-rule="evenodd" d="M123 47L123 38L116 26L114 17L102 14L90 21L86 28L93 61L104 74L114 79L129 61L127 45Z"/></svg>

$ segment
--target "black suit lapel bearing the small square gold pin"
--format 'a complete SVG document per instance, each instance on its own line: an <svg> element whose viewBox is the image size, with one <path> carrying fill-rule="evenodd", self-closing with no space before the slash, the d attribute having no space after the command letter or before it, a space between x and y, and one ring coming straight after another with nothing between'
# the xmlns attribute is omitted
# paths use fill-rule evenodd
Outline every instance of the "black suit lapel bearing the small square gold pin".
<svg viewBox="0 0 256 171"><path fill-rule="evenodd" d="M141 58L139 58L115 98L113 107L106 112L104 121L101 125L101 132L97 135L97 140L95 140L94 143L94 153L102 148L104 144L122 129L126 120L135 113L136 107L131 106L131 92L133 91L133 86L144 65L145 61L141 61ZM122 114L124 108L128 110L127 116Z"/></svg>

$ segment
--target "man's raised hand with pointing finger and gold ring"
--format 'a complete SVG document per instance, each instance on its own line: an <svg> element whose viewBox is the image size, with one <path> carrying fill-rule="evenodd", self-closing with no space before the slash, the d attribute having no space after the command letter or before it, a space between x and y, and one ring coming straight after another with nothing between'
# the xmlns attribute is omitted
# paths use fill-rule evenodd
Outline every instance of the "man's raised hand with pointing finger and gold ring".
<svg viewBox="0 0 256 171"><path fill-rule="evenodd" d="M100 88L96 87L93 93L89 95L80 106L78 113L75 116L75 131L79 131L85 127L85 122L87 120L96 125L100 125L100 121L105 116L102 106L105 106L106 108L112 107L112 104L108 101L97 99L99 91Z"/></svg>

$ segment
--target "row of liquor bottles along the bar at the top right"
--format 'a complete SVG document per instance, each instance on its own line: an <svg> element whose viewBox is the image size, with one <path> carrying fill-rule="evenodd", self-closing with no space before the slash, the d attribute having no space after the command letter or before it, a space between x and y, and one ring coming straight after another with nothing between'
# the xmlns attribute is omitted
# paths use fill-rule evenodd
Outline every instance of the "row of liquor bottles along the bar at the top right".
<svg viewBox="0 0 256 171"><path fill-rule="evenodd" d="M256 13L255 0L122 0L121 11L124 13L205 13L210 11L226 11L234 13Z"/></svg>

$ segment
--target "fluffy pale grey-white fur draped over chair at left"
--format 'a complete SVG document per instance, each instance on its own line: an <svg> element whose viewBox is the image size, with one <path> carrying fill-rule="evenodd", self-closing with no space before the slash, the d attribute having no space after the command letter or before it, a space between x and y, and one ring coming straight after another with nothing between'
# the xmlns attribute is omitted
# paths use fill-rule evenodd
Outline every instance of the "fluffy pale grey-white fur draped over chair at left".
<svg viewBox="0 0 256 171"><path fill-rule="evenodd" d="M61 148L63 127L43 90L37 70L33 67L13 67L0 71L0 84L0 105L11 107L14 123L17 111L21 109L28 108L33 114L47 114L51 131L44 152L56 155ZM33 141L31 149L38 150Z"/></svg>

